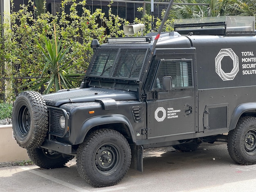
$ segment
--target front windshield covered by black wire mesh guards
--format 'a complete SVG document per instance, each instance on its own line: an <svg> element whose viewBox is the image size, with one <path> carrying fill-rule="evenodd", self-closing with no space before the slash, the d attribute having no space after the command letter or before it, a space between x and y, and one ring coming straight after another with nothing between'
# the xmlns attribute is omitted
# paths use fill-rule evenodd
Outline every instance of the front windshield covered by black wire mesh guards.
<svg viewBox="0 0 256 192"><path fill-rule="evenodd" d="M97 49L86 76L139 80L148 48Z"/></svg>

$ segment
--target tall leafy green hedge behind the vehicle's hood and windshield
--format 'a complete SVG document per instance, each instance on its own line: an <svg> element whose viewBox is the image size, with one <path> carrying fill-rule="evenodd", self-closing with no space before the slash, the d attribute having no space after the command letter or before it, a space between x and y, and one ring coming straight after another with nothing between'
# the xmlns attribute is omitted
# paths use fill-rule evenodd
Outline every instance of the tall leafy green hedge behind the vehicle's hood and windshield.
<svg viewBox="0 0 256 192"><path fill-rule="evenodd" d="M34 0L28 0L28 5L21 4L18 11L12 11L11 0L11 25L6 22L7 24L0 26L5 31L4 38L0 38L0 45L3 45L0 50L0 75L7 78L0 80L0 94L5 94L7 101L11 102L16 94L24 90L49 93L79 87L81 76L87 70L93 54L91 41L98 39L102 44L109 37L124 36L124 31L120 28L128 25L128 21L112 13L112 3L110 1L108 13L103 13L101 9L92 13L86 8L86 0L63 0L61 11L54 16L45 7L38 10L34 6ZM138 10L142 12L141 8ZM145 35L150 31L150 20L151 16L146 13L141 19L135 18L134 23L143 22L146 25ZM157 27L158 25L156 29ZM49 51L49 46L45 46L45 37L48 40L57 37L61 48L68 49L62 58L62 65L59 65L63 68L57 72L56 65L49 64L49 59L44 54ZM51 46L55 46L52 41ZM61 85L56 85L58 74ZM53 78L54 83L48 83ZM0 97L0 100L4 99Z"/></svg>

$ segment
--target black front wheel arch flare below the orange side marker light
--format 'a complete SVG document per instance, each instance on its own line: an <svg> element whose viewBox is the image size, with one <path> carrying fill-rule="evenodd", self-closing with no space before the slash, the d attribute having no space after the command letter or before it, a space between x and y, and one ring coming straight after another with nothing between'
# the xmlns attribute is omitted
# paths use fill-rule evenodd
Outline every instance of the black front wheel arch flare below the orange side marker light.
<svg viewBox="0 0 256 192"><path fill-rule="evenodd" d="M75 144L80 144L84 141L85 137L92 131L100 128L107 128L111 125L112 129L120 132L126 137L128 143L135 143L135 134L132 128L132 124L126 118L126 116L121 114L112 114L105 116L95 116L86 120L76 138ZM121 127L121 129L120 129ZM132 141L129 141L128 138L132 138Z"/></svg>

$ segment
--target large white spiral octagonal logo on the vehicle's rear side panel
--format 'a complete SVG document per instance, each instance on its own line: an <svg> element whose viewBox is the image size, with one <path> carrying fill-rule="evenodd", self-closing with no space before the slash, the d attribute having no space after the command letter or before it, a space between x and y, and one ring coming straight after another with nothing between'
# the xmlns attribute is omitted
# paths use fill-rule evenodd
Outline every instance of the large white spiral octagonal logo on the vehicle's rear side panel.
<svg viewBox="0 0 256 192"><path fill-rule="evenodd" d="M233 60L233 69L230 73L225 73L221 68L221 60L228 56ZM216 73L222 80L233 80L239 71L238 56L232 49L221 49L215 58Z"/></svg>

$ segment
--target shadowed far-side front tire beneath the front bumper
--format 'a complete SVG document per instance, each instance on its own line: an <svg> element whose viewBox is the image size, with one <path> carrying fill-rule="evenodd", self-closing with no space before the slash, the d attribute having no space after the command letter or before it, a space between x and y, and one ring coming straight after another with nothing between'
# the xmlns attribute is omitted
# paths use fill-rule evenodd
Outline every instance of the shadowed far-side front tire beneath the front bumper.
<svg viewBox="0 0 256 192"><path fill-rule="evenodd" d="M43 148L27 149L27 154L33 163L44 169L64 167L68 161L74 158L72 155L49 153Z"/></svg>

